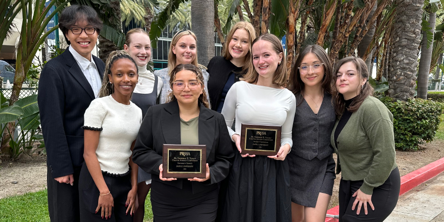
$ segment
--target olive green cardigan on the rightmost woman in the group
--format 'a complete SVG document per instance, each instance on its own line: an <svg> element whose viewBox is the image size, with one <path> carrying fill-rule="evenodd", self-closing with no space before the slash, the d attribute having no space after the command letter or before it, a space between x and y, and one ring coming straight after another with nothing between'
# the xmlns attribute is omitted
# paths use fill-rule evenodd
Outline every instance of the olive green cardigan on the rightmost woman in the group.
<svg viewBox="0 0 444 222"><path fill-rule="evenodd" d="M330 140L338 155L336 174L342 170L343 180L364 180L360 189L371 195L373 188L384 184L397 167L393 114L381 101L369 96L352 113L335 144L337 123L338 120Z"/></svg>

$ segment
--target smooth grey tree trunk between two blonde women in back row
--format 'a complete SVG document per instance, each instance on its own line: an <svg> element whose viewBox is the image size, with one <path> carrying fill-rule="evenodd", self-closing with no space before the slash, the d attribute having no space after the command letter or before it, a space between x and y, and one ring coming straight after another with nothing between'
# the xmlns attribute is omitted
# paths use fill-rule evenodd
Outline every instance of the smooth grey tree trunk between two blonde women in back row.
<svg viewBox="0 0 444 222"><path fill-rule="evenodd" d="M191 1L191 30L197 37L197 61L207 66L215 54L214 49L214 0Z"/></svg>

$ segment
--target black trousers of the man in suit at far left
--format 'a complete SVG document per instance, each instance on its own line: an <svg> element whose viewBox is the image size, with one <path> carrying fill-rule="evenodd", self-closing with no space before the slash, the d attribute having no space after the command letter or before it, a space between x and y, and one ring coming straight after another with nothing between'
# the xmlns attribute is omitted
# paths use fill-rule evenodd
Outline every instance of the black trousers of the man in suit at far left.
<svg viewBox="0 0 444 222"><path fill-rule="evenodd" d="M80 168L74 169L74 185L61 184L52 178L48 167L48 211L51 222L79 222L78 178Z"/></svg>

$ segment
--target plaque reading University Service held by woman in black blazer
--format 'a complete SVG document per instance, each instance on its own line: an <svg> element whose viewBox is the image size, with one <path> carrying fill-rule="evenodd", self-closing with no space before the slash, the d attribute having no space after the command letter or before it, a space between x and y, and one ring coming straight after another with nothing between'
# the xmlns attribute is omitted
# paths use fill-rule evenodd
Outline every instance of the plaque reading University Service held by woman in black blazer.
<svg viewBox="0 0 444 222"><path fill-rule="evenodd" d="M163 145L164 178L206 178L206 145Z"/></svg>

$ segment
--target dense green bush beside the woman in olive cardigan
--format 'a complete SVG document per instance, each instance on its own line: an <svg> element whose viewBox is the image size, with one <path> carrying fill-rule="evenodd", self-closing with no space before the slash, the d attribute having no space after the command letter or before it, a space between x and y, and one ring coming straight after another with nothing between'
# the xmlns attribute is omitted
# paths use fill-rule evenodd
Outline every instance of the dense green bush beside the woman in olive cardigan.
<svg viewBox="0 0 444 222"><path fill-rule="evenodd" d="M397 149L417 150L419 144L433 141L444 111L443 103L423 99L394 102L389 97L380 100L393 113Z"/></svg>

